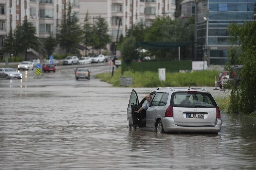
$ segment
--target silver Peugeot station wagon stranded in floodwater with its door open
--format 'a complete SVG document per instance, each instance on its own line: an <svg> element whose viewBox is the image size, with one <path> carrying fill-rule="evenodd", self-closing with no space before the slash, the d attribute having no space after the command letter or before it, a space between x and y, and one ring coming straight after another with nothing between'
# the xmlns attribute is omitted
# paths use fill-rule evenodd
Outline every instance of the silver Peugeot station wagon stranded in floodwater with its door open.
<svg viewBox="0 0 256 170"><path fill-rule="evenodd" d="M221 129L219 107L212 95L202 88L160 87L149 93L152 96L147 110L136 113L147 101L139 102L133 89L127 108L131 127L161 132L218 133ZM146 119L146 126L141 120Z"/></svg>

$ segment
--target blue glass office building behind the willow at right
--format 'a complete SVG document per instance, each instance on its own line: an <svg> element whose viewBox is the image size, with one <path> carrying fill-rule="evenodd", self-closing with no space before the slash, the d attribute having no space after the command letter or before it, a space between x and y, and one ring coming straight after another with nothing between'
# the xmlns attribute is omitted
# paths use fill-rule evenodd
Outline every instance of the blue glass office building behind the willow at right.
<svg viewBox="0 0 256 170"><path fill-rule="evenodd" d="M256 0L196 0L195 59L224 65L228 58L227 26L252 22Z"/></svg>

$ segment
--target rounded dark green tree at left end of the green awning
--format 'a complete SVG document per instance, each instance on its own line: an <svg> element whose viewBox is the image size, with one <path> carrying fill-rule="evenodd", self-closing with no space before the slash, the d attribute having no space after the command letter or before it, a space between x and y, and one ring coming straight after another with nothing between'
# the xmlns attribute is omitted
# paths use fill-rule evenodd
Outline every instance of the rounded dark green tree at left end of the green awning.
<svg viewBox="0 0 256 170"><path fill-rule="evenodd" d="M130 63L133 59L137 58L135 43L135 37L130 36L128 38L125 38L121 48L121 57L123 62Z"/></svg>

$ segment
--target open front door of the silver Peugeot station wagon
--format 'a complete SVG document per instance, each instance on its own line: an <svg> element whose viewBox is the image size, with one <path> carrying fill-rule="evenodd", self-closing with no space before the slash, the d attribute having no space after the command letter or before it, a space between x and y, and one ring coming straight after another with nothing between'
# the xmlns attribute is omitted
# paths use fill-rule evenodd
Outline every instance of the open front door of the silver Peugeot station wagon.
<svg viewBox="0 0 256 170"><path fill-rule="evenodd" d="M134 89L132 89L129 104L127 107L127 121L129 126L140 125L139 114L134 112L139 109L138 95Z"/></svg>

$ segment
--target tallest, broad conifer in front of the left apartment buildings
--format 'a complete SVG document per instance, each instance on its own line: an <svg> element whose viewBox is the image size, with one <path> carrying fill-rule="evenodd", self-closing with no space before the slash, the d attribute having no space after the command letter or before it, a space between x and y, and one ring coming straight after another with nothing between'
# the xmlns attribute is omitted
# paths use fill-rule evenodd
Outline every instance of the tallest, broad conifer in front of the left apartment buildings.
<svg viewBox="0 0 256 170"><path fill-rule="evenodd" d="M65 14L64 20L57 34L57 40L60 46L63 49L66 49L66 54L77 52L74 45L81 42L83 33L78 24L78 18L74 14L71 14L71 9L72 7L69 3L67 14Z"/></svg>

